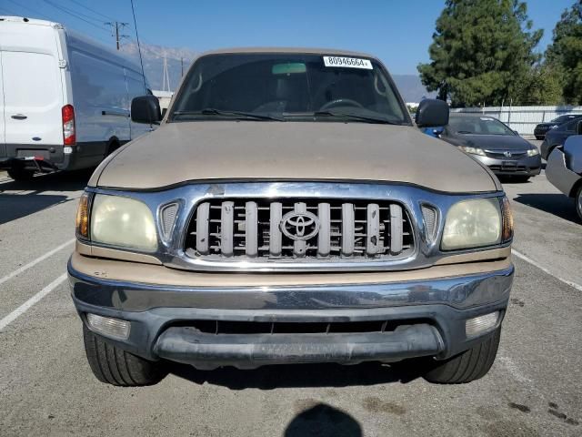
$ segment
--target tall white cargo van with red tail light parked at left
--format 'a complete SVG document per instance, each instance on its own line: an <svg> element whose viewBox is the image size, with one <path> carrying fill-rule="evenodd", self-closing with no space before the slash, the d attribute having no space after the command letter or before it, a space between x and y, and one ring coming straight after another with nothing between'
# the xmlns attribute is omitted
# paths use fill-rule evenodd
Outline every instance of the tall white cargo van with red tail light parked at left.
<svg viewBox="0 0 582 437"><path fill-rule="evenodd" d="M96 166L148 130L131 122L133 97L148 94L139 66L63 25L0 16L0 168Z"/></svg>

